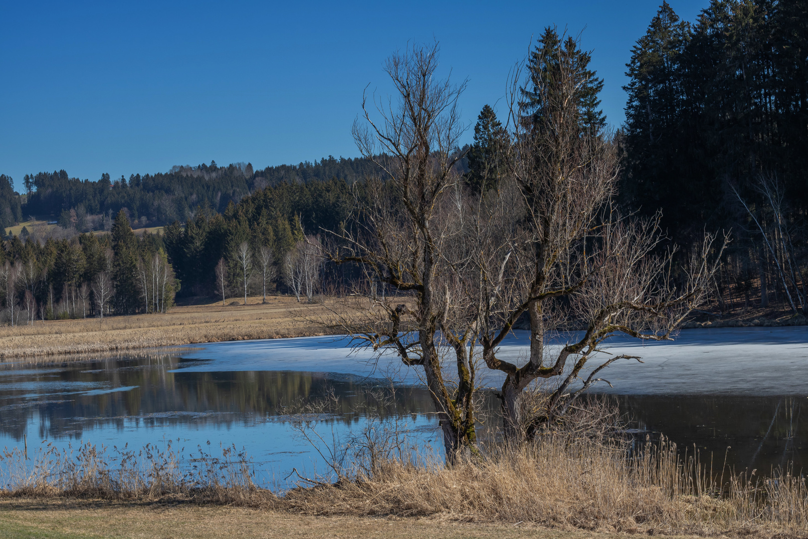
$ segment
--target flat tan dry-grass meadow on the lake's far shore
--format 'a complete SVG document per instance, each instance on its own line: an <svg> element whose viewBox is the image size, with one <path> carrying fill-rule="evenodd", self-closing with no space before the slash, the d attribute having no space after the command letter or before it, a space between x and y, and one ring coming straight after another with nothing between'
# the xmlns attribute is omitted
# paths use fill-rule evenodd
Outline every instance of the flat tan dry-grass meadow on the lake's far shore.
<svg viewBox="0 0 808 539"><path fill-rule="evenodd" d="M301 318L293 297L248 297L247 305L229 298L208 305L173 307L167 314L37 321L30 326L0 327L0 360L56 354L87 354L136 348L323 335L322 326ZM243 301L243 300L241 300ZM326 305L330 300L326 300ZM311 316L325 309L305 309Z"/></svg>

